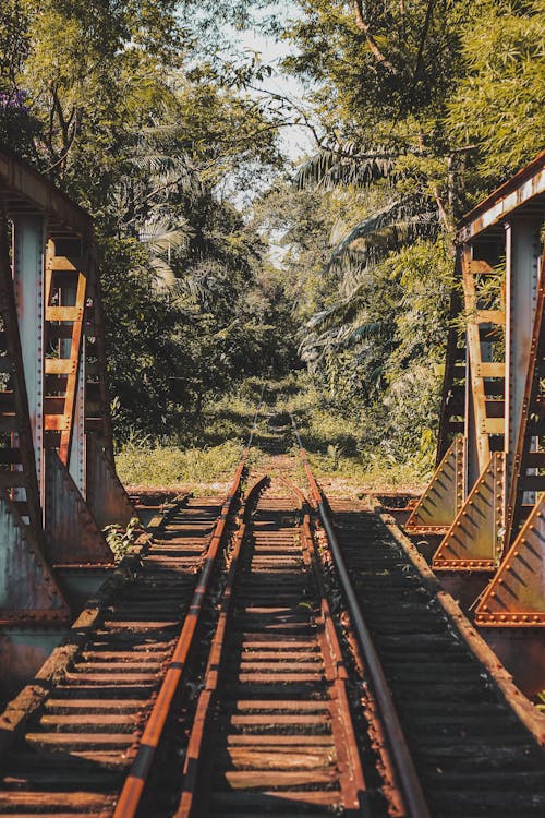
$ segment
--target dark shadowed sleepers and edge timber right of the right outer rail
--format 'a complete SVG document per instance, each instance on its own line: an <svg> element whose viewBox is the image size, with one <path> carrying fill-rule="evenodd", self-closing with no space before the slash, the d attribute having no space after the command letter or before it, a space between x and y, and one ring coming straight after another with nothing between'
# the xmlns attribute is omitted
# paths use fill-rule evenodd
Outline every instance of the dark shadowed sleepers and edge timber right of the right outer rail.
<svg viewBox="0 0 545 818"><path fill-rule="evenodd" d="M352 501L331 508L429 814L540 816L545 762L534 736L543 717L422 557L424 576L376 514ZM517 715L510 697L520 700ZM522 702L533 735L519 720Z"/></svg>

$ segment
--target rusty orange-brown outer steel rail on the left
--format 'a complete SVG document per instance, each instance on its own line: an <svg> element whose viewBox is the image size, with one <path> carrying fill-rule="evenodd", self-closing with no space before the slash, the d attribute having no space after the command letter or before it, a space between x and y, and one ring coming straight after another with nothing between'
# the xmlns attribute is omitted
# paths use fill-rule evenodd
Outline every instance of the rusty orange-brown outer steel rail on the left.
<svg viewBox="0 0 545 818"><path fill-rule="evenodd" d="M138 809L144 787L152 769L152 763L159 746L162 731L167 723L174 696L180 686L180 682L187 663L187 657L193 646L195 633L203 610L203 603L206 598L213 568L215 566L216 557L221 544L221 540L223 538L227 520L232 514L234 500L241 489L242 476L244 473L246 461L250 455L250 448L254 437L262 400L263 392L262 398L254 414L246 447L244 448L242 458L234 473L233 481L214 526L203 569L193 593L187 615L185 616L182 630L175 643L174 652L172 653L172 658L162 678L159 693L154 702L152 712L149 713L149 718L142 734L142 739L136 751L135 759L131 766L131 770L128 778L125 779L118 802L116 804L113 818L133 818Z"/></svg>

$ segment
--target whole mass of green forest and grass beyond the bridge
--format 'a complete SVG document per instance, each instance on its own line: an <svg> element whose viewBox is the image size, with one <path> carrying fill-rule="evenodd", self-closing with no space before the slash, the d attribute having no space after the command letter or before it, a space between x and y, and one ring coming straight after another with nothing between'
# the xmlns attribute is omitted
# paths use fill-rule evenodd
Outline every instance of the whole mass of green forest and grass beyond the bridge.
<svg viewBox="0 0 545 818"><path fill-rule="evenodd" d="M543 0L3 2L0 143L96 219L125 480L227 473L264 377L324 473L425 476L453 227L542 147L544 17ZM233 27L290 45L304 103L255 91L270 69L232 56ZM296 168L293 123L315 140Z"/></svg>

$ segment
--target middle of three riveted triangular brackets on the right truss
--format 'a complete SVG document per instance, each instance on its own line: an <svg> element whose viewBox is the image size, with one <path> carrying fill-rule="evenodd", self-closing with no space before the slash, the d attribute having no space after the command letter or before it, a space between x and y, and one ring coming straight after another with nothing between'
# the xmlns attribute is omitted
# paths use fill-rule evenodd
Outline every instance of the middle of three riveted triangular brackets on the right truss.
<svg viewBox="0 0 545 818"><path fill-rule="evenodd" d="M495 570L504 551L506 456L494 452L439 545L437 570Z"/></svg>

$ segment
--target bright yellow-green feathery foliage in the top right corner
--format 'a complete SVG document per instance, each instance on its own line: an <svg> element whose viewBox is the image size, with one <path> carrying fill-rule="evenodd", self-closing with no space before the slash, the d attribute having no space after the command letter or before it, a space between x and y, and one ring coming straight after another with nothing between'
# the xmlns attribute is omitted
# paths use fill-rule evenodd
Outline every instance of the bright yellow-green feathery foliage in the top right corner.
<svg viewBox="0 0 545 818"><path fill-rule="evenodd" d="M543 0L481 0L462 29L465 72L449 98L447 128L458 145L475 146L473 200L543 148L544 34Z"/></svg>

